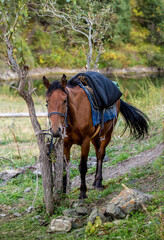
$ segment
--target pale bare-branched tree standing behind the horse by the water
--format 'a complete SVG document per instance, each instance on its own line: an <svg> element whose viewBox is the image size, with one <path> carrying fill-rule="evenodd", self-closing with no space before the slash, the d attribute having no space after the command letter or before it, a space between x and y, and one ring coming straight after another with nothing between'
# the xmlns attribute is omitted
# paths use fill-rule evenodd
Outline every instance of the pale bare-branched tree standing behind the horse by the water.
<svg viewBox="0 0 164 240"><path fill-rule="evenodd" d="M101 7L97 12L95 9L97 4L98 1L86 0L85 7L88 6L88 10L77 5L72 7L71 4L67 4L63 10L59 10L56 1L43 0L41 10L38 11L40 16L55 18L65 29L84 37L84 42L87 43L87 47L83 44L87 57L87 70L90 70L91 64L94 65L95 70L97 69L100 55L103 52L103 38L110 26L109 21L106 21L111 14L110 5ZM95 59L93 57L94 50L98 52Z"/></svg>

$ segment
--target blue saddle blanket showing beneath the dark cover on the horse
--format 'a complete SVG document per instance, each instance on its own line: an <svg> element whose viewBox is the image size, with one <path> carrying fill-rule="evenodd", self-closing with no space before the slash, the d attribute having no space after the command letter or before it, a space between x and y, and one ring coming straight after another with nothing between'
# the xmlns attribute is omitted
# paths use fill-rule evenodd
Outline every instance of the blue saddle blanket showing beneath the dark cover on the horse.
<svg viewBox="0 0 164 240"><path fill-rule="evenodd" d="M88 90L81 83L78 83L78 85L87 94L87 97L88 97L88 99L90 101L90 104L91 104L93 126L96 126L96 125L101 123L101 111L94 108L93 103L92 103L92 99L91 99L91 96L90 96ZM116 104L113 104L109 108L105 108L103 110L103 117L104 117L104 122L108 122L111 119L117 118Z"/></svg>

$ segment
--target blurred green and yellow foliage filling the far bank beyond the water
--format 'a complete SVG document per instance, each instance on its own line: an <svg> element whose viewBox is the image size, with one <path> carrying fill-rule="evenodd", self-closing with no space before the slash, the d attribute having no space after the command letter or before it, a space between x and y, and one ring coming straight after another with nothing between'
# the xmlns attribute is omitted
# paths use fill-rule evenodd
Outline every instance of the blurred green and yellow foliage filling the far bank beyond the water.
<svg viewBox="0 0 164 240"><path fill-rule="evenodd" d="M94 22L91 36L93 55L90 52L90 56L95 61L100 53L99 68L164 66L162 0L54 1L57 10L76 16L74 24L77 30L83 29L83 34L67 28L63 19L37 16L36 11L41 13L46 9L47 1L41 2L43 5L39 5L37 0L1 1L1 9L7 9L6 17L2 11L0 13L0 31L2 33L6 29L11 35L14 55L20 63L24 54L24 61L31 68L84 68L86 54L89 54L86 44L89 25L83 18L89 19L90 14ZM25 3L28 6L23 8ZM15 11L17 6L18 12ZM20 18L14 18L19 14ZM0 42L0 46L0 61L5 67L4 44Z"/></svg>

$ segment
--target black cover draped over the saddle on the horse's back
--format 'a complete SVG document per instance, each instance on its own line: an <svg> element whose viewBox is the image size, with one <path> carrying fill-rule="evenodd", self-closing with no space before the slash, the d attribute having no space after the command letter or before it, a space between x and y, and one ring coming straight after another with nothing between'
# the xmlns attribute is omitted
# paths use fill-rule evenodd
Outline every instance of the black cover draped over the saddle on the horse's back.
<svg viewBox="0 0 164 240"><path fill-rule="evenodd" d="M118 87L109 78L98 72L79 73L69 80L69 84L80 82L79 77L81 76L85 77L87 85L92 88L99 109L109 108L122 96Z"/></svg>

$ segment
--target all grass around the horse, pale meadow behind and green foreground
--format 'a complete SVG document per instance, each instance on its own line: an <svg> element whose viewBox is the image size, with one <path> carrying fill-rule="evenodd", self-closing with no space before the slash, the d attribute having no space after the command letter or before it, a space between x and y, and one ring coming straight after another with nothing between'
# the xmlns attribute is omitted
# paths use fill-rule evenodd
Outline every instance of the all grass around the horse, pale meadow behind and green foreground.
<svg viewBox="0 0 164 240"><path fill-rule="evenodd" d="M121 85L121 84L120 84ZM106 166L115 165L130 156L136 155L144 150L150 149L159 144L162 139L162 88L155 87L152 83L147 82L143 86L145 90L141 91L138 96L130 96L124 99L144 111L150 118L150 135L144 140L128 138L128 132L121 136L124 126L122 118L119 117L117 127L115 128L113 138L107 147L106 154L110 157L110 162L104 163ZM4 90L3 90L4 91ZM27 112L27 108L23 100L15 93L1 92L0 95L0 112ZM141 97L142 96L142 97ZM37 111L46 110L40 104L44 105L44 98L41 100L35 96L34 101ZM43 118L39 119L43 128L47 128L47 121ZM19 167L32 165L38 158L38 149L36 139L29 119L2 119L0 121L0 172L5 169L16 169ZM21 158L19 158L18 148L14 141L14 131ZM91 146L90 156L95 156L94 148ZM80 148L73 146L71 151L71 162L76 166L79 163ZM113 194L121 191L121 183L128 187L137 188L154 195L153 202L144 211L132 214L128 219L124 220L119 226L101 227L98 233L88 235L85 229L79 232L71 232L65 235L47 233L47 224L52 218L61 215L62 210L68 208L68 202L61 203L56 206L56 210L52 217L46 215L43 203L42 179L37 179L36 175L30 170L26 170L24 174L20 174L17 178L13 178L0 190L0 209L7 214L6 217L0 219L0 239L16 240L16 239L162 239L162 221L161 208L163 202L162 180L163 180L163 158L159 157L153 164L146 167L132 169L130 174L125 174L117 179L104 182L106 188L102 192L93 189L88 191L88 199L85 204L92 208L95 204L99 207L109 201ZM89 172L95 172L95 168L89 169ZM79 175L78 169L71 169L71 177ZM0 182L2 183L2 181ZM35 202L36 187L38 192ZM25 193L24 190L30 187L31 191ZM79 191L70 194L70 201L77 201ZM26 209L33 205L34 212L27 214ZM19 212L21 217L15 217L14 212ZM36 216L39 216L37 219ZM102 236L99 236L102 232Z"/></svg>

